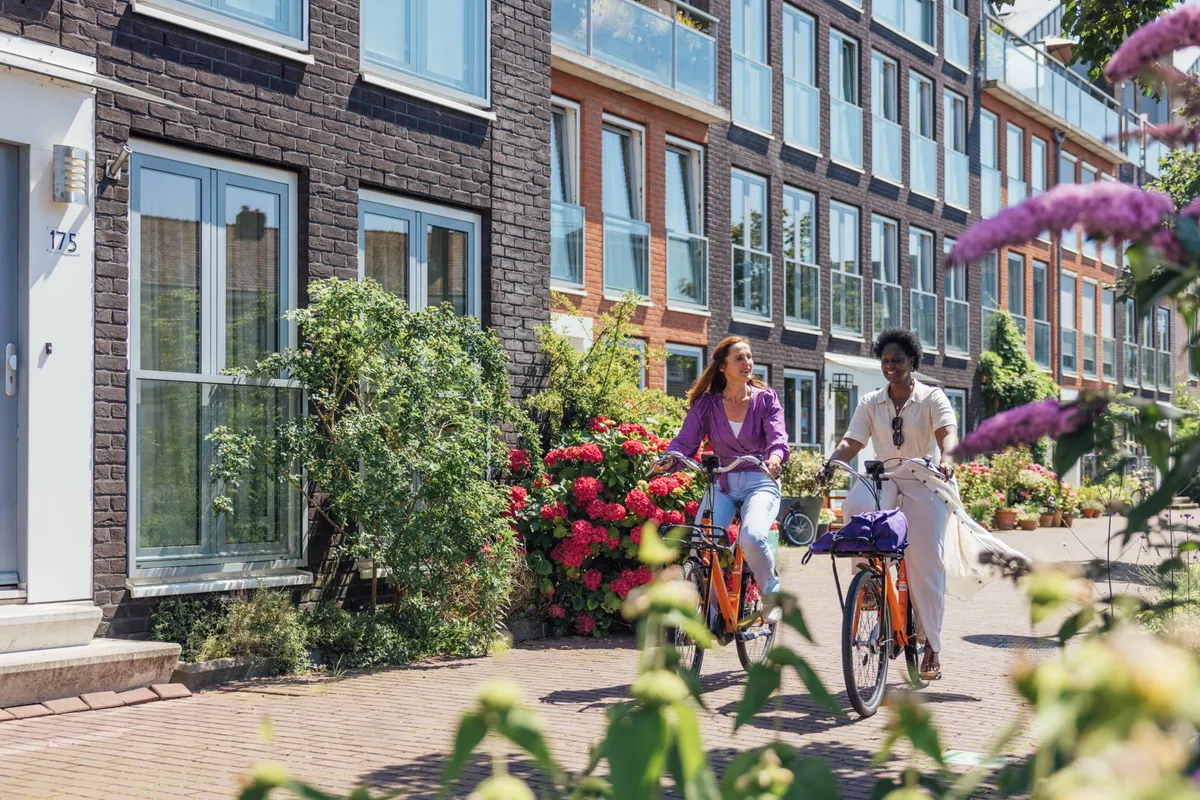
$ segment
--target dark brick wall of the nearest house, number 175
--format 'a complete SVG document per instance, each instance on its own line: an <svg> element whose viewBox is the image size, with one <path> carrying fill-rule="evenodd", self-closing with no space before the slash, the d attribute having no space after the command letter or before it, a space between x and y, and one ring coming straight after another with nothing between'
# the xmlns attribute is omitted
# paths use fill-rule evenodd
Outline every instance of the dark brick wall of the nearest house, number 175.
<svg viewBox="0 0 1200 800"><path fill-rule="evenodd" d="M538 380L548 320L550 2L492 0L494 122L365 85L359 4L310 0L306 66L134 14L127 0L0 0L0 32L92 55L98 71L194 108L100 92L97 163L131 137L290 170L299 179L299 271L356 273L358 191L386 190L482 216L482 313ZM101 631L144 634L126 565L128 179L96 198L95 601ZM311 560L323 558L319 536Z"/></svg>

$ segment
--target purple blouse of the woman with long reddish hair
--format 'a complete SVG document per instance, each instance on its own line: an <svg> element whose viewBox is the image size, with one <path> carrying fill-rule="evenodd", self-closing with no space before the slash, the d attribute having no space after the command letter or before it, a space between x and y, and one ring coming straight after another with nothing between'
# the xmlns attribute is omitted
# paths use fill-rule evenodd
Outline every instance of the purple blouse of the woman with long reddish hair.
<svg viewBox="0 0 1200 800"><path fill-rule="evenodd" d="M688 416L679 428L679 435L671 440L670 450L685 456L695 455L700 443L708 437L713 452L727 464L739 456L757 456L767 461L779 453L785 462L791 455L787 449L787 426L784 423L784 407L779 396L769 389L750 389L750 408L742 423L742 433L733 435L730 417L725 415L725 401L718 392L702 395L688 409ZM757 469L751 464L738 464L733 471Z"/></svg>

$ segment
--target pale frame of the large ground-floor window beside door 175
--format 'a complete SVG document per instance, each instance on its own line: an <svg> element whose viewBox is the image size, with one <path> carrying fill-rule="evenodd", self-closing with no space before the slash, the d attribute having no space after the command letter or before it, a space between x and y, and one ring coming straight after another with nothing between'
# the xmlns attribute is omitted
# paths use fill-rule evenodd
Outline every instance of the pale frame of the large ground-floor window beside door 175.
<svg viewBox="0 0 1200 800"><path fill-rule="evenodd" d="M181 169L179 174L192 172L224 173L245 176L256 181L266 181L287 187L287 199L281 204L281 224L287 229L281 236L287 239L286 249L281 248L281 258L286 259L282 275L280 276L280 297L286 308L299 307L299 179L295 173L260 167L247 162L210 156L192 150L174 148L170 145L131 140L133 158L149 157L158 161L175 162ZM214 184L217 182L212 178ZM132 184L132 176L131 176ZM132 194L132 187L131 187ZM286 207L283 207L286 206ZM224 312L223 297L226 285L217 285L224 276L224 254L221 252L222 233L218 229L221 223L216 222L215 209L216 198L211 207L206 209L202 216L200 228L200 259L202 259L202 288L200 288L200 314L203 323L210 329L208 336L202 329L202 357L197 372L161 372L140 368L140 212L134 207L132 197L130 205L130 323L128 323L128 363L131 391L137 391L138 381L148 380L178 380L182 383L194 383L197 385L247 385L248 379L240 379L220 374L220 367L210 363L210 354L224 353ZM294 320L281 320L280 323L280 350L295 347L299 341ZM253 381L277 389L298 389L294 381L286 379L268 379ZM302 409L302 399L301 399ZM296 541L289 543L284 551L263 553L232 553L221 555L218 553L196 554L139 554L138 552L138 403L131 397L127 404L127 440L128 462L126 473L126 565L130 578L172 578L198 573L211 572L246 572L251 570L270 570L284 567L299 567L307 563L308 551L308 515L307 510L300 513L300 528L296 531ZM301 410L302 413L302 410ZM203 471L203 470L202 470ZM205 476L199 475L198 480L204 481ZM200 509L200 513L206 513L208 509ZM197 546L202 547L202 546Z"/></svg>

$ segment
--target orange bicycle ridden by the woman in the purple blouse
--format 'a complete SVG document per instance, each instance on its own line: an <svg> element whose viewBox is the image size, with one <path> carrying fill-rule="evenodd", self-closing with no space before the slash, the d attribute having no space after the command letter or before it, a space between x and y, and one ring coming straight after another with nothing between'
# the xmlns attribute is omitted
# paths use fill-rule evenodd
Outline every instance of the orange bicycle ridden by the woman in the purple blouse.
<svg viewBox="0 0 1200 800"><path fill-rule="evenodd" d="M730 541L727 530L713 524L713 500L716 476L732 471L743 462L754 464L767 475L770 473L754 456L742 456L727 467L721 467L720 457L714 453L702 455L700 463L696 463L680 452L667 451L655 463L670 463L672 459L701 473L707 481L700 522L676 525L668 534L689 551L683 564L684 581L690 582L700 596L696 609L698 618L707 621L708 630L719 644L725 646L734 642L738 661L744 669L750 669L750 664L766 661L775 643L776 626L767 622L763 615L763 599L754 576L745 567L742 548ZM677 533L680 530L683 536ZM726 565L722 565L722 559ZM680 630L673 630L670 637L679 654L679 668L698 675L704 662L704 650Z"/></svg>

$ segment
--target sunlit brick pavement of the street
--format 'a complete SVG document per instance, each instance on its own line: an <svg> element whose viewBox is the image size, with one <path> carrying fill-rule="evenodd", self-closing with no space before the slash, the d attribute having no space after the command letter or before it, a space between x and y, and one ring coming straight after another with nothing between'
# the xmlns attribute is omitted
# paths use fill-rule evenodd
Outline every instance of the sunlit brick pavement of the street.
<svg viewBox="0 0 1200 800"><path fill-rule="evenodd" d="M1062 531L1044 535L1048 552L1061 548L1052 537L1068 539ZM799 554L785 551L781 572L785 585L803 597L818 639L805 652L845 700L836 643L840 618L828 561L802 569ZM1027 646L1028 637L1051 630L1030 628L1025 601L1008 584L989 585L970 603L948 601L946 678L924 692L942 727L944 747L983 751L1020 712L1007 681L1015 650ZM796 638L785 640L796 645ZM601 735L604 709L626 696L635 666L632 646L631 638L547 640L503 657L336 680L276 679L175 703L5 722L0 798L226 799L235 796L238 778L264 760L282 762L328 790L367 783L377 790L406 789L412 793L407 796L431 798L457 715L472 704L475 687L493 675L514 678L526 687L554 752L577 769L587 747ZM1051 651L1028 652L1045 657ZM709 708L703 716L704 740L718 765L733 750L775 735L770 718L732 733L742 674L732 646L704 661ZM893 682L899 679L893 672ZM779 716L786 741L830 759L844 796L869 795L877 776L870 758L883 738L884 714L866 721L835 720L790 678ZM268 720L269 739L263 733ZM1027 744L1019 740L1015 747ZM894 762L888 769L901 765ZM484 769L476 764L469 775L478 778Z"/></svg>

